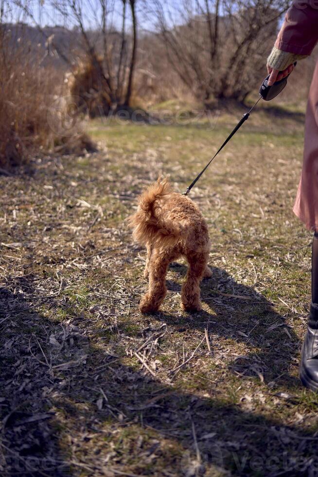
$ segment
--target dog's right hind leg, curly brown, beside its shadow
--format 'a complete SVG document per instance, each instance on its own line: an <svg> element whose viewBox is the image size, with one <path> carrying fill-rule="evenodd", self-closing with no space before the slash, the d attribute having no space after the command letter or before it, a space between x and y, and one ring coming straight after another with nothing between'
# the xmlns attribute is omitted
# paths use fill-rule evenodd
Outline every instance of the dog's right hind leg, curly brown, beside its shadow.
<svg viewBox="0 0 318 477"><path fill-rule="evenodd" d="M183 310L196 311L201 310L200 301L200 281L205 275L209 254L195 254L187 257L189 268L186 281L181 289L181 303Z"/></svg>

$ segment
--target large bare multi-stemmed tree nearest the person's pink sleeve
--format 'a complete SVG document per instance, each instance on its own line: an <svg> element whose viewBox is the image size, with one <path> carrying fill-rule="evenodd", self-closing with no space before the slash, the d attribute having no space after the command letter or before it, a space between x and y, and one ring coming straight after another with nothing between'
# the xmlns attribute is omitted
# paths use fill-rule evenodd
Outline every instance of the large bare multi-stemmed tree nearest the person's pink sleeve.
<svg viewBox="0 0 318 477"><path fill-rule="evenodd" d="M147 1L167 58L205 103L243 101L259 82L286 0Z"/></svg>

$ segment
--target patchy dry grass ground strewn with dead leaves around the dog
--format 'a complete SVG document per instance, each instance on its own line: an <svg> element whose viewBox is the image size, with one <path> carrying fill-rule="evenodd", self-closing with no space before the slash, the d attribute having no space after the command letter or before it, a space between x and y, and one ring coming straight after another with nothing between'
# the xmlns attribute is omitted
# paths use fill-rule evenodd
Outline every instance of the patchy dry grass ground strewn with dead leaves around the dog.
<svg viewBox="0 0 318 477"><path fill-rule="evenodd" d="M299 111L255 111L194 187L212 239L203 311L180 310L180 262L160 312L138 312L145 253L124 219L160 173L185 190L237 112L213 127L95 120L104 152L0 178L1 475L314 472L318 398L298 379L311 242L291 210Z"/></svg>

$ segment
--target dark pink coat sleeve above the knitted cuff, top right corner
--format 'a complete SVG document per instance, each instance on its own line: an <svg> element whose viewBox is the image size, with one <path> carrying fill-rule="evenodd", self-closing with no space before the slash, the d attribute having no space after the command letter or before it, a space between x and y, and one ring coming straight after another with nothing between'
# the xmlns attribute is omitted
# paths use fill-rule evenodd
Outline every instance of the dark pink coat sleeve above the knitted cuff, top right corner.
<svg viewBox="0 0 318 477"><path fill-rule="evenodd" d="M295 55L310 55L318 42L318 1L295 0L286 13L275 47Z"/></svg>

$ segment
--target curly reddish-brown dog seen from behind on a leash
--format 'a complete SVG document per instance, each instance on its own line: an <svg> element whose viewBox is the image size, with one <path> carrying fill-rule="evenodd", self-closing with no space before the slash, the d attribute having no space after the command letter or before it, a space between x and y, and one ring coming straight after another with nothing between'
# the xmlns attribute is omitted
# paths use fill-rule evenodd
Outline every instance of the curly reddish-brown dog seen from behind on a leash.
<svg viewBox="0 0 318 477"><path fill-rule="evenodd" d="M139 197L137 212L129 217L133 238L147 247L145 277L149 290L141 297L141 313L156 312L167 293L169 263L185 257L189 263L181 290L183 310L201 310L200 281L210 277L208 226L191 199L172 192L167 180L158 180Z"/></svg>

